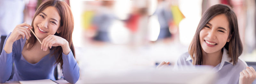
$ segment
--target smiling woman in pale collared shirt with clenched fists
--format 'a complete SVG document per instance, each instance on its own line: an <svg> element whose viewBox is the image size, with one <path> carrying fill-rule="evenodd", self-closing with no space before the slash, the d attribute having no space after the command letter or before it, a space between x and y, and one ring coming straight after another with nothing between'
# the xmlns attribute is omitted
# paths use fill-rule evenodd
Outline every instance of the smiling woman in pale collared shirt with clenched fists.
<svg viewBox="0 0 256 84"><path fill-rule="evenodd" d="M256 72L238 58L242 52L235 12L228 5L216 4L204 12L188 52L174 67L212 66L219 75L217 84L251 84ZM168 67L169 63L162 62L157 68Z"/></svg>

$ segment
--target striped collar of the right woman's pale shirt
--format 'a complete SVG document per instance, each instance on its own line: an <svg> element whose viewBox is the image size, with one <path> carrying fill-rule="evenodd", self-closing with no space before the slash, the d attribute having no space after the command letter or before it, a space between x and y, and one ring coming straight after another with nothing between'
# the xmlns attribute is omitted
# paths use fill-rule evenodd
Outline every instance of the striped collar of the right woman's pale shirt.
<svg viewBox="0 0 256 84"><path fill-rule="evenodd" d="M186 61L189 61L189 60L192 60L190 55L187 57ZM221 59L220 67L218 68L218 71L224 66L225 62L228 62L233 65L233 62L230 62L230 60L231 60L231 57L229 57L228 55L228 50L225 47L223 47L222 59Z"/></svg>

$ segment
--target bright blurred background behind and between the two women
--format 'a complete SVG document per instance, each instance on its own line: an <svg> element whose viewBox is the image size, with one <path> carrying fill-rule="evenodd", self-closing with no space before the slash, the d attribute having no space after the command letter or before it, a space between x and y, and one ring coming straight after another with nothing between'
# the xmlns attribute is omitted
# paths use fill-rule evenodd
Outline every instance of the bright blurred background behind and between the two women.
<svg viewBox="0 0 256 84"><path fill-rule="evenodd" d="M31 24L44 0L1 0L0 35L26 21ZM188 52L204 11L227 4L236 12L244 51L240 59L256 61L255 0L63 0L70 5L73 42L80 71L174 65ZM82 77L83 75L81 75Z"/></svg>

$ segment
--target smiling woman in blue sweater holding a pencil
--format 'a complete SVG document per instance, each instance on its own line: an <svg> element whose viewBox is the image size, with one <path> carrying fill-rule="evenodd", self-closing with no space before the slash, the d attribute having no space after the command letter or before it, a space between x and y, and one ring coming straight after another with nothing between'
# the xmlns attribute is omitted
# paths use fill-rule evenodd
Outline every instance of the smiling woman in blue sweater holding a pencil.
<svg viewBox="0 0 256 84"><path fill-rule="evenodd" d="M35 32L39 41L32 34ZM31 26L17 25L7 36L0 56L0 83L22 80L55 80L53 71L59 64L65 80L76 83L79 66L72 42L73 15L67 3L59 0L43 2L34 15ZM22 38L22 39L21 39Z"/></svg>

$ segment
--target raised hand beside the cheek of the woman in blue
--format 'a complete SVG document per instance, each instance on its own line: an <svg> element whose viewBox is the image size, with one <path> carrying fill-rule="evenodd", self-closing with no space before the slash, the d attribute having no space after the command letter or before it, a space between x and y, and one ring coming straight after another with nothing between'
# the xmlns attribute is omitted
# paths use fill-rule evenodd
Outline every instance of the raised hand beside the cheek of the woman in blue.
<svg viewBox="0 0 256 84"><path fill-rule="evenodd" d="M24 26L27 26L28 28L33 28L32 26L30 26L29 24L27 23L22 23L22 24L19 24L17 25L11 35L9 36L9 38L7 39L9 42L15 42L16 40L19 40L21 39L24 39L25 36L26 36L26 39L28 39L29 37L31 37L31 34L30 34L30 30L28 28L25 28Z"/></svg>

